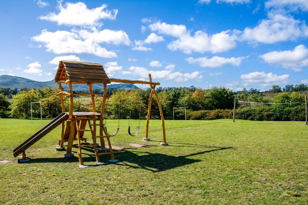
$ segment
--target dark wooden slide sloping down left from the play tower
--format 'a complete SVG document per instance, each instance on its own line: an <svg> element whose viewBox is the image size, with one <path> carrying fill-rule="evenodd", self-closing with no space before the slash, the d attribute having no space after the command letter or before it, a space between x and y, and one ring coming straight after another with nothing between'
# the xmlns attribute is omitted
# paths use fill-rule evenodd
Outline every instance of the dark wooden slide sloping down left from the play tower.
<svg viewBox="0 0 308 205"><path fill-rule="evenodd" d="M64 112L58 115L55 119L51 120L48 124L46 124L39 131L35 132L34 135L29 137L22 144L16 147L13 150L13 156L17 157L22 152L25 152L26 149L31 147L34 143L39 141L41 138L43 138L43 136L47 135L47 133L49 133L51 130L55 129L56 127L58 127L64 120L67 120L67 119L68 119L68 115Z"/></svg>

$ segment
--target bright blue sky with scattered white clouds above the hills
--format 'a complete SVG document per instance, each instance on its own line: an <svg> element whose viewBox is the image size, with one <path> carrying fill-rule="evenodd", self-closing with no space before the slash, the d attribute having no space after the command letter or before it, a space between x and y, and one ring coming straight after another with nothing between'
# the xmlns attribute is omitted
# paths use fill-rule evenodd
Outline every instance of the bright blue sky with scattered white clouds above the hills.
<svg viewBox="0 0 308 205"><path fill-rule="evenodd" d="M0 19L0 75L75 60L163 87L308 83L307 0L2 1Z"/></svg>

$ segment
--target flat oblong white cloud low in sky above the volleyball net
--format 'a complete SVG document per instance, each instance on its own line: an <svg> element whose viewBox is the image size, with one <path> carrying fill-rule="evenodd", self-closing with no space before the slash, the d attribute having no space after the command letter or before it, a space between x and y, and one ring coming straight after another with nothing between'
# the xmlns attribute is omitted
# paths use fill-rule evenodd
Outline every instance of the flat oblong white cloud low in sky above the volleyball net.
<svg viewBox="0 0 308 205"><path fill-rule="evenodd" d="M284 74L278 76L273 73L265 73L263 72L252 72L248 74L241 75L241 79L244 83L261 83L263 86L268 86L265 84L273 84L273 83L286 83L289 79L288 74Z"/></svg>

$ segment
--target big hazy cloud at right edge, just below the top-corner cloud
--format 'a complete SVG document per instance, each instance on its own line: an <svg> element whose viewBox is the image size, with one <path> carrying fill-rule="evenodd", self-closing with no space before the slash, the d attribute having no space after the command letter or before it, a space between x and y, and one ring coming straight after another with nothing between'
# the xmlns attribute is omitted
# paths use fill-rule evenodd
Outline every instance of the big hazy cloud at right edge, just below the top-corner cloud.
<svg viewBox="0 0 308 205"><path fill-rule="evenodd" d="M296 20L291 15L268 13L268 19L262 19L254 28L246 27L243 32L234 30L239 40L272 44L281 41L296 40L308 36L305 21Z"/></svg>

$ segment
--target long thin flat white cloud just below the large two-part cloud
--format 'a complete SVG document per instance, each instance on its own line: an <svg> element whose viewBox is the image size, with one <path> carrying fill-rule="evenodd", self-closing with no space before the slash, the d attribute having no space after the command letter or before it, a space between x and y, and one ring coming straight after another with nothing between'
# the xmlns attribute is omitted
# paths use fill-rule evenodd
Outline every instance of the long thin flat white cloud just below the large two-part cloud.
<svg viewBox="0 0 308 205"><path fill-rule="evenodd" d="M231 57L231 58L225 58L225 57L219 57L214 56L212 58L202 57L202 58L193 58L189 57L185 60L190 64L198 64L201 67L221 67L228 64L234 65L234 66L240 66L243 59L245 57Z"/></svg>

